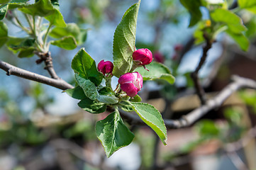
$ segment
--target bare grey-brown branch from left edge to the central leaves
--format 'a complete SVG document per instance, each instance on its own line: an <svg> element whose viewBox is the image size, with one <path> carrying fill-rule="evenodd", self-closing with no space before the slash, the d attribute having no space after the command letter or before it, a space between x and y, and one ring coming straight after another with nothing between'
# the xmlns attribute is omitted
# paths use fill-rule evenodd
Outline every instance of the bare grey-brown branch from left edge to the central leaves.
<svg viewBox="0 0 256 170"><path fill-rule="evenodd" d="M72 89L74 88L71 84L68 84L66 81L62 79L51 79L49 77L44 77L40 74L35 74L33 72L28 72L25 69L20 69L18 67L15 67L9 63L3 62L0 60L0 69L3 69L6 71L6 74L8 76L15 75L17 77L22 77L24 79L30 79L33 81L37 81L39 83L48 84L50 86L54 86L57 89Z"/></svg>

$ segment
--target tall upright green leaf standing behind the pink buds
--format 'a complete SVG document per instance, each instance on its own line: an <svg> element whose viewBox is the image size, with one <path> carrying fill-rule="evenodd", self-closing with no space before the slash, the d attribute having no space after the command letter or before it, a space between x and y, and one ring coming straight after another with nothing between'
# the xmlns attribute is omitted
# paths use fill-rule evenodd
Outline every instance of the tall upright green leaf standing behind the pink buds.
<svg viewBox="0 0 256 170"><path fill-rule="evenodd" d="M140 1L130 6L113 35L113 75L120 77L130 71L135 50L135 34Z"/></svg>

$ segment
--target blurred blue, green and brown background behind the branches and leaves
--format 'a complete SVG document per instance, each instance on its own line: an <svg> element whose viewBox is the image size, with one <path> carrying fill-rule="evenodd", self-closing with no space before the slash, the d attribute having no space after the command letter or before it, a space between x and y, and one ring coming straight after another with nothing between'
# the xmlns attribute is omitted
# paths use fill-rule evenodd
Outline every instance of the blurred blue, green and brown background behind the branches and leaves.
<svg viewBox="0 0 256 170"><path fill-rule="evenodd" d="M84 47L96 63L112 59L113 33L126 9L137 1L62 0L60 12L66 23L88 29L87 40L75 50L51 46L58 76L74 84L71 62ZM233 1L229 1L233 4ZM201 8L203 18L208 14ZM256 17L238 13L245 22L250 49L243 52L225 34L208 52L199 72L209 98L215 96L238 74L255 79ZM9 35L23 33L7 19ZM193 38L189 13L177 0L142 0L138 14L136 47L147 47L156 62L162 62L176 77L174 85L145 82L140 96L164 118L181 118L200 106L190 72L202 55L202 45ZM48 76L37 57L18 58L7 47L0 49L1 60ZM251 169L256 168L256 92L239 91L198 123L179 130L168 130L167 146L146 126L130 125L135 140L106 158L94 127L108 113L93 115L77 106L75 99L52 86L38 84L0 70L0 169ZM117 80L112 82L113 88ZM245 141L244 141L245 139Z"/></svg>

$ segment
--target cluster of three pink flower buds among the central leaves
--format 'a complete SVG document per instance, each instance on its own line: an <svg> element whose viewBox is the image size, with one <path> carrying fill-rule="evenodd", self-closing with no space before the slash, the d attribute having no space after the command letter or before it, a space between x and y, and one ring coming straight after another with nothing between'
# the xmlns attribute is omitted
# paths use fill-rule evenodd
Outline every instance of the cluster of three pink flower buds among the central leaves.
<svg viewBox="0 0 256 170"><path fill-rule="evenodd" d="M133 52L133 61L135 67L143 66L145 68L145 65L152 62L152 52L147 48L135 50L135 52ZM109 77L109 75L112 75L113 63L101 60L98 64L98 70L104 74L105 77ZM143 77L138 72L128 72L119 77L118 84L120 84L121 89L126 92L128 96L134 97L143 87Z"/></svg>

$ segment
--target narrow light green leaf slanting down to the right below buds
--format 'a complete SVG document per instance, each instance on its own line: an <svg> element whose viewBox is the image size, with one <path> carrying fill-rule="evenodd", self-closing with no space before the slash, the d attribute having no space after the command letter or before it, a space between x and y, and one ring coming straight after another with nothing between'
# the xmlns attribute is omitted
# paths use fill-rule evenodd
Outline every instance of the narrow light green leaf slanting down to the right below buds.
<svg viewBox="0 0 256 170"><path fill-rule="evenodd" d="M163 144L166 145L167 141L167 130L165 128L164 120L162 115L157 109L148 104L140 102L130 102L133 105L134 111L140 116L140 118L154 130L162 140Z"/></svg>

